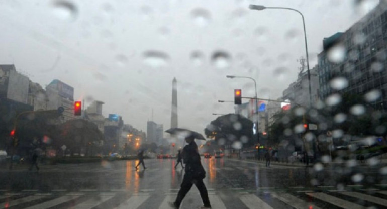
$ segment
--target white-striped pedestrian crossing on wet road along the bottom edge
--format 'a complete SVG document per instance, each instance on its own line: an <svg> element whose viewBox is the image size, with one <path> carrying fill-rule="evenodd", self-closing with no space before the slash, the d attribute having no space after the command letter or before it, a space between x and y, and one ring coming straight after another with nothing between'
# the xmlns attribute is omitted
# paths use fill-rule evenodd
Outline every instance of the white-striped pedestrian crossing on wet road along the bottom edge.
<svg viewBox="0 0 387 209"><path fill-rule="evenodd" d="M308 191L289 189L287 191L266 190L247 192L243 190L209 190L212 208L248 208L248 209L277 209L277 208L387 208L387 191L372 190L319 190ZM79 190L67 192L55 190L42 193L35 190L20 192L0 191L0 209L2 208L170 208L169 201L173 201L177 189L158 191L143 189L137 193L125 190L96 191ZM198 208L201 199L198 190L192 189L180 208Z"/></svg>

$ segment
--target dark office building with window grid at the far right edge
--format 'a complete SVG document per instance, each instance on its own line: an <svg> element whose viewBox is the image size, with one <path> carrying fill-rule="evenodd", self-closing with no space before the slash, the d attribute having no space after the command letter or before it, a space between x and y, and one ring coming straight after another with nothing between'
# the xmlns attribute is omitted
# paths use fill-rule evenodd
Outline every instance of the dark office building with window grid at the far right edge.
<svg viewBox="0 0 387 209"><path fill-rule="evenodd" d="M324 50L318 55L322 100L334 93L364 95L375 90L374 95L380 96L370 104L376 109L387 109L386 1L380 1L344 33L324 38L323 47ZM329 56L335 51L343 53L338 57ZM337 82L332 83L335 78Z"/></svg>

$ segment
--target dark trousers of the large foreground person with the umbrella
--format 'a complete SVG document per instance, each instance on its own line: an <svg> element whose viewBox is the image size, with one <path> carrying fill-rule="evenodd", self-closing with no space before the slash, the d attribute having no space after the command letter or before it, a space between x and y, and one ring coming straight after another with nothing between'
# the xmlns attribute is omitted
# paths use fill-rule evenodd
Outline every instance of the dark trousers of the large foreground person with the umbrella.
<svg viewBox="0 0 387 209"><path fill-rule="evenodd" d="M191 174L189 173L184 174L183 182L180 185L180 190L177 194L175 205L177 207L180 207L181 201L184 199L185 195L191 189L193 184L195 184L195 186L198 188L200 196L202 197L203 204L205 206L210 207L210 199L208 198L207 188L206 185L204 185L203 183L203 179L192 178Z"/></svg>

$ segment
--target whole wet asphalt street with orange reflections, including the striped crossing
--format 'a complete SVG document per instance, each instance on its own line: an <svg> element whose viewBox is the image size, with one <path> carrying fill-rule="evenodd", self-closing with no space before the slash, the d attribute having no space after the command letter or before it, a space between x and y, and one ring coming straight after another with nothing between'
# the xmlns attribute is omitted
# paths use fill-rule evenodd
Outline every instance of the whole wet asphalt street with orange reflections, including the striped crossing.
<svg viewBox="0 0 387 209"><path fill-rule="evenodd" d="M169 208L184 171L175 159L0 170L0 208ZM382 166L287 166L202 159L213 208L387 208ZM181 208L202 205L194 186ZM372 207L373 206L373 207Z"/></svg>

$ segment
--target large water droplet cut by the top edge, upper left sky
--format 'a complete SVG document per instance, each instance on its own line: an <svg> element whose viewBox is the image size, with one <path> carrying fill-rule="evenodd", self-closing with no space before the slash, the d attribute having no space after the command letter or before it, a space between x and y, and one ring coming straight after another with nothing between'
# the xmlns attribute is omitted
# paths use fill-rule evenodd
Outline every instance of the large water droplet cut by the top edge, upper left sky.
<svg viewBox="0 0 387 209"><path fill-rule="evenodd" d="M58 0L53 3L54 14L57 18L65 21L74 21L78 15L77 7L65 0Z"/></svg>

